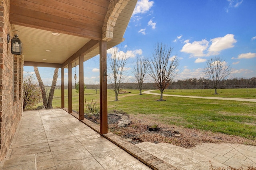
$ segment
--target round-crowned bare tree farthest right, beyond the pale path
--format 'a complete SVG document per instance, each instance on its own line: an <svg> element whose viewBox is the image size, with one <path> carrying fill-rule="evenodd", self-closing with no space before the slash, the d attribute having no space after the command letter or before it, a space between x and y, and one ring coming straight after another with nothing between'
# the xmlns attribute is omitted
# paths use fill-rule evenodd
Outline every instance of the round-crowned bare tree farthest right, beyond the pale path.
<svg viewBox="0 0 256 170"><path fill-rule="evenodd" d="M226 62L220 56L214 56L206 61L206 67L203 72L207 79L212 81L212 85L215 89L215 95L217 95L217 87L221 81L225 80L230 74L231 68L226 65Z"/></svg>

